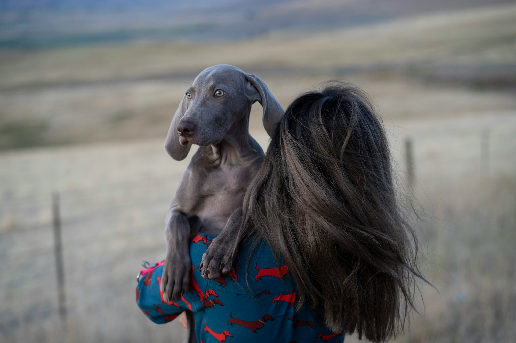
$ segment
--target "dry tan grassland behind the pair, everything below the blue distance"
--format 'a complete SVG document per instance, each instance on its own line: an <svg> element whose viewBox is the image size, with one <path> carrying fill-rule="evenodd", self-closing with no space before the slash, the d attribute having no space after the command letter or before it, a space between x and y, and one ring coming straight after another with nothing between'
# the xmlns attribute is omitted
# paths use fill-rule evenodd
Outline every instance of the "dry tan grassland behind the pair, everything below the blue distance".
<svg viewBox="0 0 516 343"><path fill-rule="evenodd" d="M228 63L283 107L337 79L369 93L401 188L413 145L419 312L396 342L516 340L516 6L317 31L0 54L0 340L180 342L134 301L165 255L168 202L193 155L163 150L188 84ZM261 107L251 135L264 149ZM67 321L57 312L51 194L61 197ZM356 337L346 338L353 342Z"/></svg>

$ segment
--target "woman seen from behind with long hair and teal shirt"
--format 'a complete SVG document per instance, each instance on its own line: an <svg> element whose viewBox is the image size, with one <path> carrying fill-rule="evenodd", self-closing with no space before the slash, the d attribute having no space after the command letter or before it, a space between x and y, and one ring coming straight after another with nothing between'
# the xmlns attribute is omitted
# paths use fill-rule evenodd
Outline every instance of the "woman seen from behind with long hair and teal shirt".
<svg viewBox="0 0 516 343"><path fill-rule="evenodd" d="M206 250L198 239L193 265ZM334 83L296 98L275 130L244 200L236 282L195 270L195 291L159 311L157 288L140 282L139 305L155 321L191 308L203 342L341 341L344 331L385 341L413 307L416 248L380 119L358 89Z"/></svg>

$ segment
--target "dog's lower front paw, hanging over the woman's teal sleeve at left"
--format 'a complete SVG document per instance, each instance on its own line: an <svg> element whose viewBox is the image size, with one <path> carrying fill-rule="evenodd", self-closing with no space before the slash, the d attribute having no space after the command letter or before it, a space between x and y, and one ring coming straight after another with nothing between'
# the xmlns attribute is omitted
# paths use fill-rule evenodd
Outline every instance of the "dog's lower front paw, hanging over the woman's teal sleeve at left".
<svg viewBox="0 0 516 343"><path fill-rule="evenodd" d="M192 264L189 256L188 259L182 259L181 256L171 251L167 253L161 279L164 301L178 301L181 299L181 295L188 291L191 270Z"/></svg>

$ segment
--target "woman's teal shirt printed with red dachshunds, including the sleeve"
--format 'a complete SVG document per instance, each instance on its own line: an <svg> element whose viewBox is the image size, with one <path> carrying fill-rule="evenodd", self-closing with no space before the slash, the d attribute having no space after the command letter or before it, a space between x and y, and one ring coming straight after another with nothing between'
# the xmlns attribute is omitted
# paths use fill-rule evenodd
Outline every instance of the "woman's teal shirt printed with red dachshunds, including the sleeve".
<svg viewBox="0 0 516 343"><path fill-rule="evenodd" d="M212 238L201 233L191 239L190 254L193 265L201 262L200 258ZM161 278L157 277L161 276L163 265L156 264L155 267L144 270L148 275L139 280L136 293L138 305L147 317L156 323L166 323L178 317L183 311L192 311L195 321L199 324L195 327L198 331L197 338L206 343L342 341L343 333L333 333L316 318L313 321L299 320L312 318L313 314L305 305L296 312L296 304L299 302L298 291L293 288L295 284L288 277L288 268L285 264L280 268L260 268L258 262L264 267L276 265L274 256L267 247L258 249L257 254L253 256L256 257L251 260L249 266L254 262L257 272L249 272L252 267L239 268L235 263L236 268L227 275L221 275L217 282L202 278L200 271L192 268L189 291L182 294L181 300L177 302L163 300L163 293L160 291ZM242 262L242 258L239 261ZM255 282L252 282L253 273ZM228 279L228 276L231 279ZM262 280L265 276L270 278ZM239 277L244 281L240 284L235 283ZM247 277L250 281L250 293L246 291ZM245 295L238 293L241 290L245 291ZM281 320L278 320L280 317ZM273 321L275 318L276 321ZM210 320L209 325L206 324L206 319ZM286 321L287 319L289 321ZM231 330L231 333L228 330Z"/></svg>

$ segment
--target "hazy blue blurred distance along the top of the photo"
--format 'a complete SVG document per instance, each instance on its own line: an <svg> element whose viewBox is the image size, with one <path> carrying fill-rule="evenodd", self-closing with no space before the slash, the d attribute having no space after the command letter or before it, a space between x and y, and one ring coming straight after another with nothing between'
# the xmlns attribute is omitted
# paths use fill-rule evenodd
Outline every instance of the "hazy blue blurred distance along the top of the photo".
<svg viewBox="0 0 516 343"><path fill-rule="evenodd" d="M356 26L508 0L4 0L0 49L134 41L224 41Z"/></svg>

